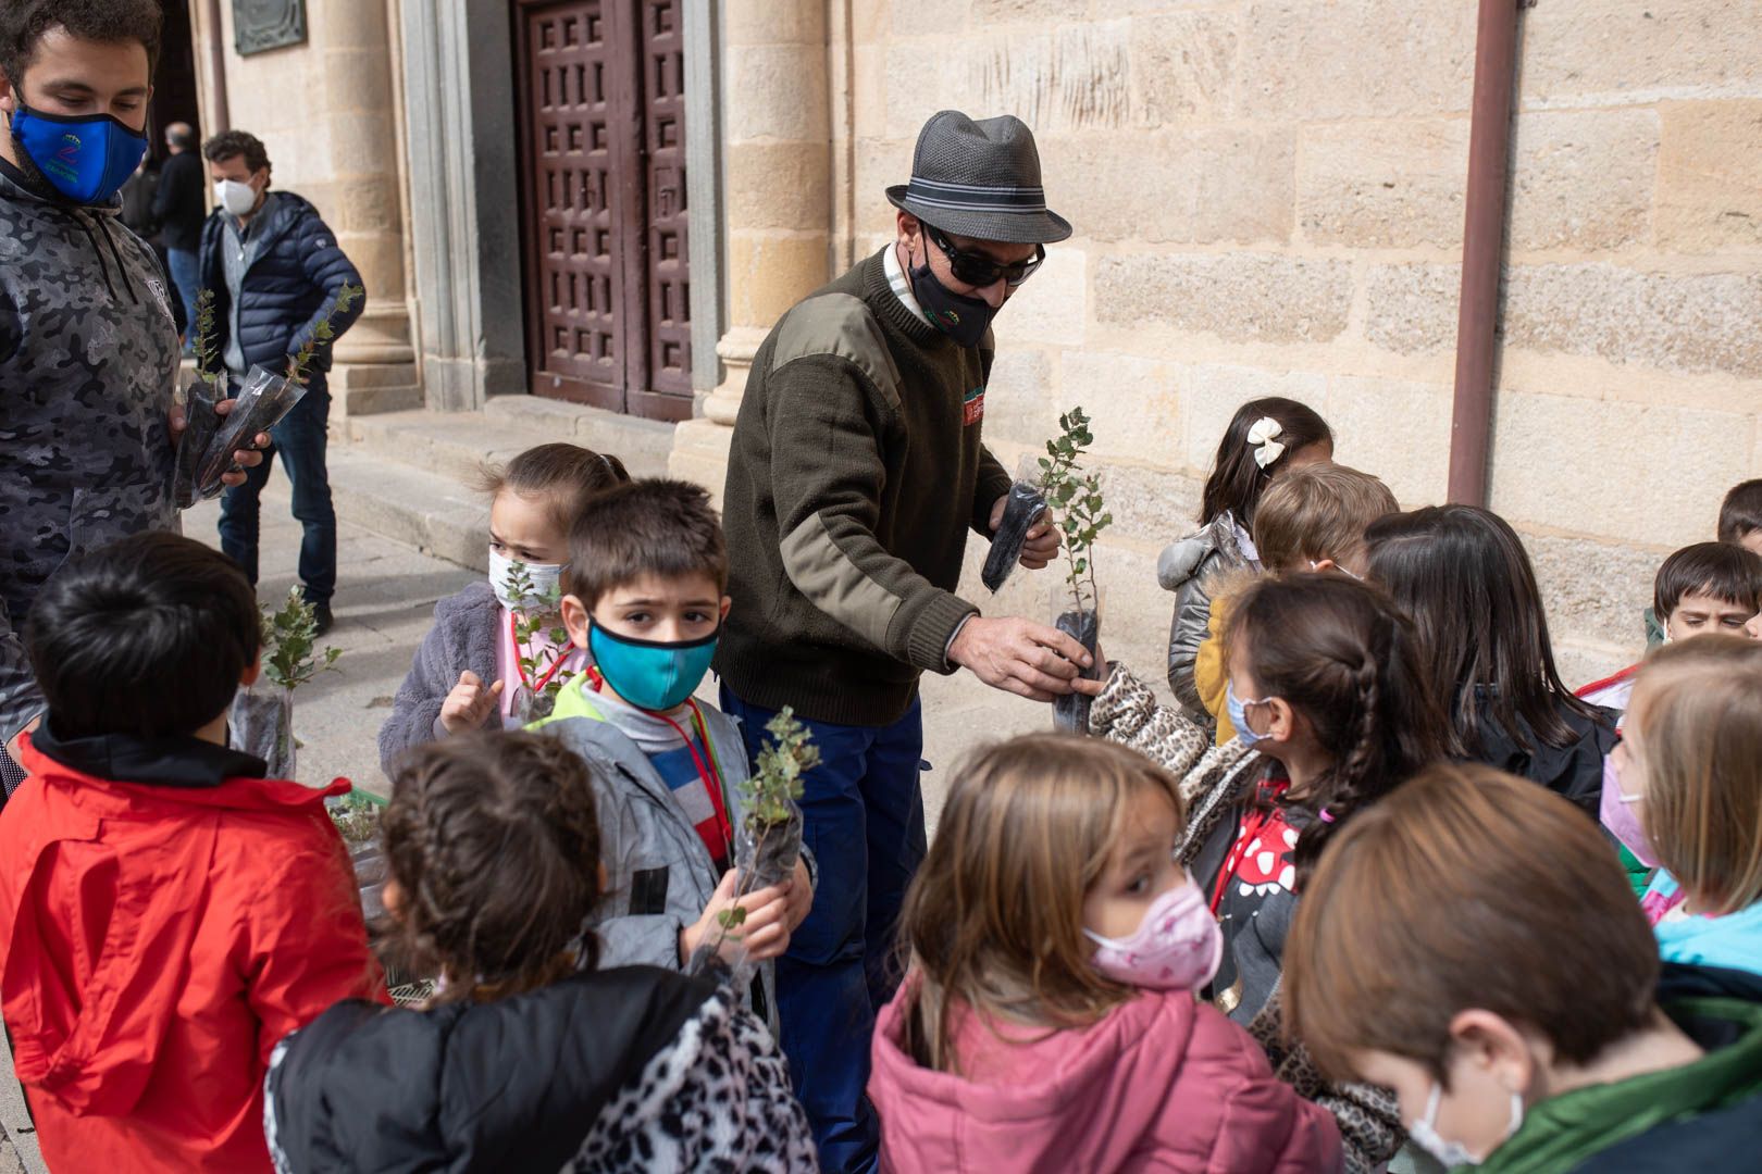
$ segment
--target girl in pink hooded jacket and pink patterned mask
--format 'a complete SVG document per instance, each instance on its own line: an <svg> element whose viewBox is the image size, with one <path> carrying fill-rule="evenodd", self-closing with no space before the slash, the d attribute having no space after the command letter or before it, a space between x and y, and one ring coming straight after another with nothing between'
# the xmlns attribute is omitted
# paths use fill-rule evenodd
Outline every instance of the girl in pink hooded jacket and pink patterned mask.
<svg viewBox="0 0 1762 1174"><path fill-rule="evenodd" d="M906 898L869 1097L883 1170L1341 1169L1325 1109L1195 991L1223 956L1175 778L1036 736L955 781Z"/></svg>

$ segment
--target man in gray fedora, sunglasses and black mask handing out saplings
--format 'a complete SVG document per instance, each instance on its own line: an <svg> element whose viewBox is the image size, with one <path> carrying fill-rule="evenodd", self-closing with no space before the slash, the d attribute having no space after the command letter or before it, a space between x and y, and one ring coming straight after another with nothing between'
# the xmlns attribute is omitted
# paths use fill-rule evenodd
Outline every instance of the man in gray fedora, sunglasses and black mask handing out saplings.
<svg viewBox="0 0 1762 1174"><path fill-rule="evenodd" d="M1034 701L1094 693L1055 628L955 595L967 532L990 537L1010 473L980 442L990 320L1071 225L1047 209L1018 118L925 123L897 238L793 306L752 359L722 523L733 607L715 669L749 753L793 706L821 764L805 778L819 878L777 961L782 1047L826 1170L876 1163L863 1098L892 994L900 901L923 859L918 674L967 669ZM1029 532L1045 567L1057 532Z"/></svg>

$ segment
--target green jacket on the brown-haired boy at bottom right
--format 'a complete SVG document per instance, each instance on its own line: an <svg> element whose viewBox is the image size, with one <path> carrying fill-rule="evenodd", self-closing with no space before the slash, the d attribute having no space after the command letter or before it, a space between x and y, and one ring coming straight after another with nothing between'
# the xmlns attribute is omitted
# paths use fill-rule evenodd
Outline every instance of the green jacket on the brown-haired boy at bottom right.
<svg viewBox="0 0 1762 1174"><path fill-rule="evenodd" d="M1478 1169L1482 1174L1563 1174L1593 1169L1669 1169L1642 1158L1653 1130L1743 1105L1732 1118L1706 1116L1706 1128L1753 1121L1762 1114L1762 1003L1741 998L1684 998L1665 1003L1707 1054L1692 1065L1563 1093L1524 1114L1522 1128ZM1732 1038L1736 1037L1736 1038ZM1721 1046L1723 1044L1723 1046ZM1744 1104L1755 1102L1755 1104ZM1598 1158L1623 1146L1623 1160ZM1757 1160L1732 1155L1739 1169Z"/></svg>

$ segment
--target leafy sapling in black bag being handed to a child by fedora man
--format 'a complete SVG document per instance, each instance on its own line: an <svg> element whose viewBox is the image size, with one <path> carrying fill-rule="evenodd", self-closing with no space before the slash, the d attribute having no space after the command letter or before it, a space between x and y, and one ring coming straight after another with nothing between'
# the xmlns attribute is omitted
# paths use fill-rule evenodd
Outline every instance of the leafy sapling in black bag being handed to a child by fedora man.
<svg viewBox="0 0 1762 1174"><path fill-rule="evenodd" d="M1040 491L1047 498L1054 521L1064 532L1064 597L1054 621L1094 657L1101 639L1101 591L1096 586L1094 544L1114 523L1101 502L1101 479L1085 473L1082 456L1094 444L1089 417L1082 408L1071 408L1059 417L1061 437L1047 442L1047 456L1040 458ZM1101 665L1084 671L1087 679L1101 676ZM1089 697L1062 693L1052 702L1054 729L1075 734L1089 732Z"/></svg>

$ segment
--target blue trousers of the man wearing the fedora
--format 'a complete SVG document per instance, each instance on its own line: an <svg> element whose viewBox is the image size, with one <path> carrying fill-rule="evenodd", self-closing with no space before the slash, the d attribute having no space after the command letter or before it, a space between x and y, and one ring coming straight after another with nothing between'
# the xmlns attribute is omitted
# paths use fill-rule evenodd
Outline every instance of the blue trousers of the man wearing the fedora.
<svg viewBox="0 0 1762 1174"><path fill-rule="evenodd" d="M756 759L775 709L749 706L724 685L722 713L740 720ZM777 1016L821 1169L856 1174L876 1169L881 1130L863 1091L869 1038L876 1010L899 986L893 933L925 852L923 711L913 701L892 725L803 725L819 746L819 766L802 776L802 838L819 887L777 959Z"/></svg>

